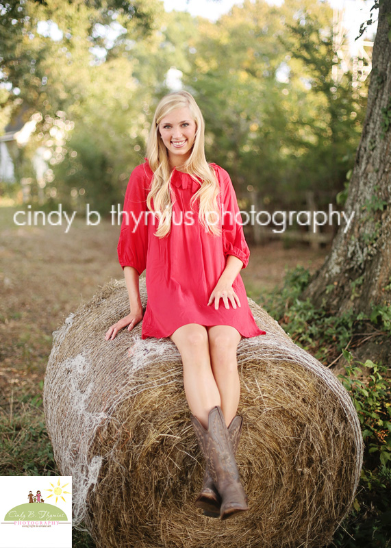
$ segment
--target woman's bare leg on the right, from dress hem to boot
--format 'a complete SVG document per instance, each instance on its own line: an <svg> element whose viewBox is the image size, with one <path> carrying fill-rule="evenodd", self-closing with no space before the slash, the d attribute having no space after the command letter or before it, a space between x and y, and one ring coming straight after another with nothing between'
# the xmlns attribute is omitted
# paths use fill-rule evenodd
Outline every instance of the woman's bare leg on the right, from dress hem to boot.
<svg viewBox="0 0 391 548"><path fill-rule="evenodd" d="M227 426L238 410L240 399L240 379L236 353L242 336L230 325L213 325L207 327L210 345L212 371L218 387Z"/></svg>

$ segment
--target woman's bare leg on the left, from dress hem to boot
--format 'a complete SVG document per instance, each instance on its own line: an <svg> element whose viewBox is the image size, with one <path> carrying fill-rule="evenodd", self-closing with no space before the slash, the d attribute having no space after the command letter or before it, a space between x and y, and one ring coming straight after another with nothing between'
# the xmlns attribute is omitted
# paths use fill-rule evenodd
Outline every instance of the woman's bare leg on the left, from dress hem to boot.
<svg viewBox="0 0 391 548"><path fill-rule="evenodd" d="M210 410L221 404L210 363L207 330L198 323L188 323L179 327L170 338L181 354L190 410L201 425L207 428Z"/></svg>

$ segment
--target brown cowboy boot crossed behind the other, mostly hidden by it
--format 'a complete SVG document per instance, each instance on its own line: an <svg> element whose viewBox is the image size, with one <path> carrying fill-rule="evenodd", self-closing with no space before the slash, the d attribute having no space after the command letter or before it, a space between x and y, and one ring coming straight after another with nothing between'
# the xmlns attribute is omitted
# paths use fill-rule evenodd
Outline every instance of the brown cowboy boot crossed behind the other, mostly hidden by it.
<svg viewBox="0 0 391 548"><path fill-rule="evenodd" d="M242 433L243 419L241 416L236 415L232 419L228 427L229 441L232 445L234 455L238 450L240 434ZM208 466L205 466L205 472L203 474L203 486L201 493L195 500L195 506L203 509L203 514L211 518L220 517L221 497L218 490L214 486L212 476Z"/></svg>

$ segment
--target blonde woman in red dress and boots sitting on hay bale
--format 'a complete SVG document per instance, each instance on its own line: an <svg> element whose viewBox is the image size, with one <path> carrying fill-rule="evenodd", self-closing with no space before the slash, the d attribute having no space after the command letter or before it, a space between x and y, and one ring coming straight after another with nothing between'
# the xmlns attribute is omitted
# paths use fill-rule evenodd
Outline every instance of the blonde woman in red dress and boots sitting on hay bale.
<svg viewBox="0 0 391 548"><path fill-rule="evenodd" d="M227 171L207 163L204 129L190 93L170 93L157 105L147 158L127 186L118 242L130 313L105 338L142 320L143 339L173 340L206 462L195 503L207 516L227 519L248 510L234 458L242 429L236 352L242 337L265 332L255 323L240 277L249 247L234 187ZM138 278L144 269L143 318Z"/></svg>

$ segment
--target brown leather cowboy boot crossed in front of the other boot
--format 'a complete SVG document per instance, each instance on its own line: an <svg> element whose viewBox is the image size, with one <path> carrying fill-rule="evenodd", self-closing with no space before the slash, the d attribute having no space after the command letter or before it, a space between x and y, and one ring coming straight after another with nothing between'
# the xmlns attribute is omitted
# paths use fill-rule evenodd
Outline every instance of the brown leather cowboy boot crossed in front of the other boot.
<svg viewBox="0 0 391 548"><path fill-rule="evenodd" d="M210 411L207 430L195 416L192 416L192 425L214 485L221 497L220 519L227 519L238 512L249 510L220 407L216 406Z"/></svg>

